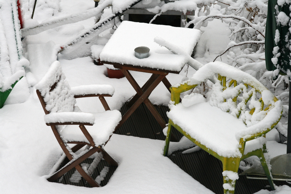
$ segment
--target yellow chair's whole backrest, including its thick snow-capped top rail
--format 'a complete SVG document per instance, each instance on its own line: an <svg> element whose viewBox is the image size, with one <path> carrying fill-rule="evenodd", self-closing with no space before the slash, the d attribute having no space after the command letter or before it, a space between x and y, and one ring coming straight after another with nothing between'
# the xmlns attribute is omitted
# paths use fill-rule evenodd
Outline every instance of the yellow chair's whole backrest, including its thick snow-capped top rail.
<svg viewBox="0 0 291 194"><path fill-rule="evenodd" d="M216 76L210 104L242 120L247 127L265 118L278 99L250 74L221 62L208 63L191 78L191 84ZM200 84L199 83L199 84Z"/></svg>

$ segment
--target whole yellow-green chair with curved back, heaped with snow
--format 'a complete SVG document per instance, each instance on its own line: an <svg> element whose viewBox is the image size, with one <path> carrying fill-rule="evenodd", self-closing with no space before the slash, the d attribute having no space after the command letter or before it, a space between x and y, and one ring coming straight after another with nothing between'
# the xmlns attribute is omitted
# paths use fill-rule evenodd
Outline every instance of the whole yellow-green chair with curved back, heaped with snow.
<svg viewBox="0 0 291 194"><path fill-rule="evenodd" d="M180 103L182 92L213 77L216 83L208 102L191 93ZM272 92L250 74L221 62L204 65L190 80L170 90L164 156L168 155L171 130L175 127L222 161L224 193L234 193L240 161L254 155L259 157L274 190L265 136L281 119L283 106Z"/></svg>

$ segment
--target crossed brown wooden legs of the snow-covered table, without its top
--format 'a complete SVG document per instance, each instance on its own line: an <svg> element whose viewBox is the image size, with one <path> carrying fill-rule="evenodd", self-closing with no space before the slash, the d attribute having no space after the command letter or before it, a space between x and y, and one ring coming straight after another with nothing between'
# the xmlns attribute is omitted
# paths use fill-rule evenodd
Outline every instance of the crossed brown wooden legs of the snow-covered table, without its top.
<svg viewBox="0 0 291 194"><path fill-rule="evenodd" d="M120 68L120 67L119 67ZM151 94L152 90L154 90L157 85L162 81L164 85L168 88L170 88L171 84L166 79L166 75L168 73L164 74L152 74L150 79L143 85L142 88L138 85L138 83L134 80L133 76L129 73L128 70L120 68L120 70L123 72L129 83L133 86L133 88L136 90L136 95L130 100L129 110L123 115L121 121L116 126L115 131L119 129L119 127L129 118L129 116L136 110L136 108L141 105L141 103L145 103L145 105L148 107L152 115L155 117L159 125L164 129L166 127L166 122L162 118L162 116L158 113L157 109L154 107L154 105L150 102L148 99L149 95ZM170 91L170 90L169 90ZM114 132L115 132L114 131ZM173 136L172 136L173 135ZM177 141L177 138L174 134L171 134L171 138L173 141Z"/></svg>

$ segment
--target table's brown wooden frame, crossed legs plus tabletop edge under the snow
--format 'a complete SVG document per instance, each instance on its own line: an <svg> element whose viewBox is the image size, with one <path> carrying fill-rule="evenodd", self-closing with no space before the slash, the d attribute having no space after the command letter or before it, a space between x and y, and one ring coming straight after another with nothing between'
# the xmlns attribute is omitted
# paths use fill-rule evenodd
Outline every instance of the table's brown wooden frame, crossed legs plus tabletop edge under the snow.
<svg viewBox="0 0 291 194"><path fill-rule="evenodd" d="M169 70L161 70L161 69L158 70L158 69L153 69L149 67L140 67L140 66L135 66L135 65L112 63L108 61L101 61L101 63L111 64L115 68L120 69L125 75L126 79L129 81L129 83L132 85L134 90L137 92L136 95L134 95L134 97L128 102L127 105L130 108L123 115L121 121L116 126L114 132L116 132L120 128L120 126L129 118L129 116L136 110L136 108L138 108L139 105L141 105L141 103L144 103L148 107L148 109L150 110L152 115L155 117L159 125L162 127L162 129L164 129L166 127L166 122L164 121L162 116L159 114L157 109L154 107L154 105L150 102L148 97L152 93L152 90L154 90L161 81L164 83L168 91L171 93L171 90L170 90L171 83L166 78L166 75L168 75L169 73L179 74L180 71L177 72L177 71L169 71ZM151 73L152 75L150 76L148 81L142 87L140 87L138 83L135 81L135 79L133 78L133 76L130 74L129 70ZM171 134L171 140L178 141L176 136L173 133Z"/></svg>

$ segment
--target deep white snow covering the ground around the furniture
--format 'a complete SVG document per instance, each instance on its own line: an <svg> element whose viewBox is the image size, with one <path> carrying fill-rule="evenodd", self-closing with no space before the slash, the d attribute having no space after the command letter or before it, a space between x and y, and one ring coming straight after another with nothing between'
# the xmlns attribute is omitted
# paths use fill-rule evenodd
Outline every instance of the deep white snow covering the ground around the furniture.
<svg viewBox="0 0 291 194"><path fill-rule="evenodd" d="M27 25L36 23L36 20L41 23L94 7L93 0L38 0L40 6L36 8L33 21L29 17L34 1L22 1ZM212 12L216 13L216 10L212 9ZM105 150L119 162L119 166L106 186L84 188L50 183L42 177L49 173L62 151L50 127L45 125L44 112L33 86L56 60L59 44L67 42L93 24L94 18L90 18L27 36L23 40L26 51L24 56L30 60L31 65L26 68L26 77L16 84L6 105L0 109L1 193L212 193L162 155L163 141L115 134ZM224 51L230 41L230 32L228 25L218 19L201 29L205 32L198 42L196 59L205 64ZM222 60L225 60L223 56ZM111 109L120 109L136 93L126 78L109 79L106 67L94 65L90 56L59 61L70 86L112 85L115 94L106 98ZM187 71L185 66L179 75L169 74L167 79L171 84L179 83L186 74L191 77L194 72L191 67ZM131 73L139 85L143 85L150 77L150 74ZM170 93L161 83L149 99L153 104L168 105ZM84 112L104 111L97 97L77 99L77 105ZM277 142L277 131L272 130L267 139L272 157L286 152L286 146ZM282 186L276 192L258 192L273 193L291 193L291 189Z"/></svg>

